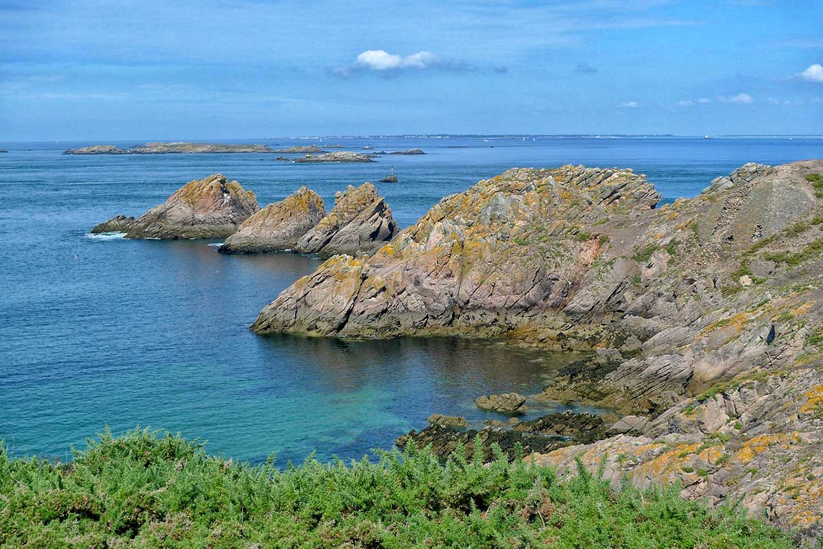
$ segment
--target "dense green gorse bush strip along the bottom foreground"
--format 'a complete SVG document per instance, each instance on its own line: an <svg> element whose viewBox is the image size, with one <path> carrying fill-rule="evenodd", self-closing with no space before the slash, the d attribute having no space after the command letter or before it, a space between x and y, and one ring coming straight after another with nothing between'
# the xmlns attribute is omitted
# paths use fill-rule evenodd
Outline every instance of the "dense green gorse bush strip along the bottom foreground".
<svg viewBox="0 0 823 549"><path fill-rule="evenodd" d="M440 463L410 444L278 469L139 428L106 432L67 464L0 448L0 547L792 547L677 487L616 492L582 466L560 482L498 455Z"/></svg>

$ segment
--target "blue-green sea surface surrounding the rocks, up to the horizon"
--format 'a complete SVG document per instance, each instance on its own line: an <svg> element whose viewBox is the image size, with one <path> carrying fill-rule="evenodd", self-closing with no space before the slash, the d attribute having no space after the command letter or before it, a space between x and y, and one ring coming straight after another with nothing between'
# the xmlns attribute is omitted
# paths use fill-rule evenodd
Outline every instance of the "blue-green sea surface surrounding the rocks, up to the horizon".
<svg viewBox="0 0 823 549"><path fill-rule="evenodd" d="M226 140L226 142L238 142ZM319 140L255 140L289 147ZM106 240L91 226L139 215L191 179L221 172L261 206L308 185L327 209L347 184L376 181L401 226L445 194L513 166L585 164L648 174L664 200L690 197L747 161L823 158L819 137L327 138L425 156L294 165L273 155L63 156L94 143L0 143L0 440L16 456L67 458L105 426L208 440L239 459L360 458L432 412L485 414L483 393L538 393L574 357L502 342L343 342L255 336L260 309L316 258L224 256L208 241ZM114 143L129 146L130 143ZM533 407L532 416L553 408Z"/></svg>

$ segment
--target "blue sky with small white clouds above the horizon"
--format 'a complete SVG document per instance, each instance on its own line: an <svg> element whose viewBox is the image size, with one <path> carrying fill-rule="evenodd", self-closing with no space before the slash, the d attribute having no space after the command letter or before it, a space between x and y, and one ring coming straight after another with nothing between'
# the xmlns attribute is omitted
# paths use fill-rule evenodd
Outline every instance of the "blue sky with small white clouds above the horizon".
<svg viewBox="0 0 823 549"><path fill-rule="evenodd" d="M821 0L0 0L0 141L821 134L821 29Z"/></svg>

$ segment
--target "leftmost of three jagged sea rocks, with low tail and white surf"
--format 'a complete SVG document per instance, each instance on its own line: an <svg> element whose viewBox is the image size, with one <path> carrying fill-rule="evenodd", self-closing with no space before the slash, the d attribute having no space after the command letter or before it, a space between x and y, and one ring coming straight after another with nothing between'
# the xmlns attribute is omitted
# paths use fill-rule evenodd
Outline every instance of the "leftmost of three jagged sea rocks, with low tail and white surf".
<svg viewBox="0 0 823 549"><path fill-rule="evenodd" d="M91 232L123 232L137 239L226 238L259 209L254 193L214 174L190 181L137 219L116 216Z"/></svg>

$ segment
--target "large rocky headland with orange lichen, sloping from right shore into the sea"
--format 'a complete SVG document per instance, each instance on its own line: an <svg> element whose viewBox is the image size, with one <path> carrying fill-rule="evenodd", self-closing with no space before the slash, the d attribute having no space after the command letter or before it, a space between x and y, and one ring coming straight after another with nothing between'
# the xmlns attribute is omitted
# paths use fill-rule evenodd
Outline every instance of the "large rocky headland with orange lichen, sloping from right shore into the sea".
<svg viewBox="0 0 823 549"><path fill-rule="evenodd" d="M252 328L592 351L532 398L611 409L607 424L435 423L399 443L447 454L475 435L504 451L520 442L564 474L575 456L595 469L605 460L616 485L678 480L688 498L742 500L820 535L819 174L823 161L745 165L658 207L631 170L509 170L444 198L370 257L328 259Z"/></svg>

